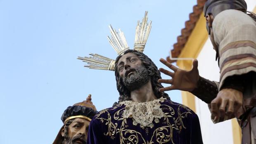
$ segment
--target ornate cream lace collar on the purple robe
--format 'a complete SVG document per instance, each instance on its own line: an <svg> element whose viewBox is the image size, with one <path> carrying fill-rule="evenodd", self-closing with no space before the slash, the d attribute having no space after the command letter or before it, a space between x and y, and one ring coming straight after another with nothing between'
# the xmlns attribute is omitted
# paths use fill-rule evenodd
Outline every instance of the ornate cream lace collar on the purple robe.
<svg viewBox="0 0 256 144"><path fill-rule="evenodd" d="M159 102L164 102L166 98L161 97L160 99L155 99L149 102L133 102L133 101L123 101L119 104L124 104L125 110L123 111L123 118L133 117L133 125L140 124L141 127L154 127L152 123L159 123L159 118L164 116L164 112L160 108L161 104Z"/></svg>

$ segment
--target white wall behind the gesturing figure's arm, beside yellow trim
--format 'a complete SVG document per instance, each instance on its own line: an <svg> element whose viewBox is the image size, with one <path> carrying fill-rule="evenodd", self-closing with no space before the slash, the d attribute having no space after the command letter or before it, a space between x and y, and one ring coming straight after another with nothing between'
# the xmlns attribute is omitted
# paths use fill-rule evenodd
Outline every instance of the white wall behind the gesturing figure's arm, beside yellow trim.
<svg viewBox="0 0 256 144"><path fill-rule="evenodd" d="M211 41L208 39L197 57L198 70L200 76L219 81L219 68L215 61L215 54ZM207 104L197 97L195 103L204 144L233 144L231 120L213 124Z"/></svg>

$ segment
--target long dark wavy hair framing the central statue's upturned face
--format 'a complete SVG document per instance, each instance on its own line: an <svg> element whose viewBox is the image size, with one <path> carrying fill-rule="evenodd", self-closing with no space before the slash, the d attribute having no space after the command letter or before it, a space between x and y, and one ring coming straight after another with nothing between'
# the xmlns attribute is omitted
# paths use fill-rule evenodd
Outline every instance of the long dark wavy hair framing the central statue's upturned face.
<svg viewBox="0 0 256 144"><path fill-rule="evenodd" d="M159 89L162 88L163 85L161 85L161 83L158 83L158 80L161 78L161 73L157 69L154 62L151 59L149 59L149 57L147 57L145 54L143 54L142 52L138 52L136 50L126 50L124 52L124 54L130 53L130 52L132 52L133 54L136 54L137 57L140 58L140 60L144 64L144 66L147 68L147 71L148 71L150 79L151 79L152 89L153 89L153 92L154 92L155 96L158 99L161 98L161 97L170 99L168 94L166 94L165 92L159 92ZM126 101L126 100L131 100L130 91L123 84L123 80L119 76L119 71L118 71L118 68L117 68L118 61L121 57L122 57L121 55L118 56L116 58L116 63L115 63L116 87L117 87L117 90L118 90L119 95L120 95L119 102L123 102L123 101Z"/></svg>

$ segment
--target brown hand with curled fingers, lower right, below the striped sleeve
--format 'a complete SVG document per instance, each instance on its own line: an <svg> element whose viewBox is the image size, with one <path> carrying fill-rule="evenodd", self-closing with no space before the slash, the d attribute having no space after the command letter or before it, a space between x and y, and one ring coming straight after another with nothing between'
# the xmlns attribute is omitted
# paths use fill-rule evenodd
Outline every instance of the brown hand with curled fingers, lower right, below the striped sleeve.
<svg viewBox="0 0 256 144"><path fill-rule="evenodd" d="M238 90L230 88L220 90L217 97L209 104L213 123L234 118L238 109L242 106L242 100L243 94Z"/></svg>

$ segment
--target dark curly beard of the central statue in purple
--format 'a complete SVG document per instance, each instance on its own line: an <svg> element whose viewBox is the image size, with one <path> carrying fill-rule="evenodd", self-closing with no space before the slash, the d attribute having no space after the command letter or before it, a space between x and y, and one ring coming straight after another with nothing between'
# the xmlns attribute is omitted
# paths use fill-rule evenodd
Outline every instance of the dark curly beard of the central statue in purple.
<svg viewBox="0 0 256 144"><path fill-rule="evenodd" d="M144 66L134 69L133 74L123 78L123 84L130 91L137 90L149 82L149 74Z"/></svg>

